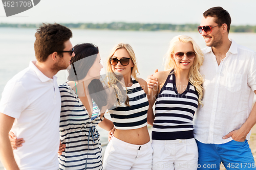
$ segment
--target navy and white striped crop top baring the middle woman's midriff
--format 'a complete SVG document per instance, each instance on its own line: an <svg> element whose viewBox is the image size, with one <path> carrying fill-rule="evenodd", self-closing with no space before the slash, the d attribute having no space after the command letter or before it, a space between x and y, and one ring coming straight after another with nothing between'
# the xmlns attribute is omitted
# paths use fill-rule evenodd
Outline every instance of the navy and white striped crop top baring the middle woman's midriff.
<svg viewBox="0 0 256 170"><path fill-rule="evenodd" d="M121 103L115 109L109 110L116 129L139 129L147 125L147 96L140 84L134 78L132 80L133 85L127 87L130 106Z"/></svg>

